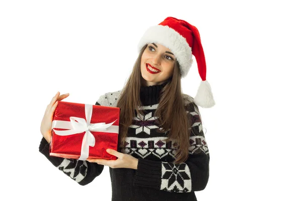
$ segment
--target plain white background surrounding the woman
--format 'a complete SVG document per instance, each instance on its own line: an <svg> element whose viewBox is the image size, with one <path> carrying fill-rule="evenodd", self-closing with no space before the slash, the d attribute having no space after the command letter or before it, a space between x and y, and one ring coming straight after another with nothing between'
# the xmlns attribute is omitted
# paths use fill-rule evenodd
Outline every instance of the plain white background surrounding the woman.
<svg viewBox="0 0 302 201"><path fill-rule="evenodd" d="M198 28L216 101L199 108L211 159L198 200L301 200L298 2L1 1L2 196L111 200L109 167L77 184L38 151L40 123L57 91L95 104L120 90L144 31L172 16ZM200 80L194 58L183 92Z"/></svg>

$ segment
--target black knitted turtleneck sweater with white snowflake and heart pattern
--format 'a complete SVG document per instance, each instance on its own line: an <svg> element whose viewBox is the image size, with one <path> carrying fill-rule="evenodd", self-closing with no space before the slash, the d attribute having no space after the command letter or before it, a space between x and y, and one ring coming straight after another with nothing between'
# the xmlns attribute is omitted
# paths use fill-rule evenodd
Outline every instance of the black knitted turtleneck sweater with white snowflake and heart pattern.
<svg viewBox="0 0 302 201"><path fill-rule="evenodd" d="M133 117L126 137L126 146L119 152L138 159L137 169L109 168L112 201L123 200L197 200L194 191L203 190L209 178L209 152L202 131L198 108L191 96L185 95L186 110L191 117L189 157L181 164L174 164L175 142L168 141L167 133L157 133L154 113L158 107L160 91L166 83L142 86L140 97L147 111L143 117ZM101 95L96 105L116 107L121 91ZM136 113L135 113L136 114ZM192 131L198 133L193 134ZM169 131L168 131L169 132ZM80 185L86 185L99 176L104 166L77 159L49 156L49 144L42 138L39 151Z"/></svg>

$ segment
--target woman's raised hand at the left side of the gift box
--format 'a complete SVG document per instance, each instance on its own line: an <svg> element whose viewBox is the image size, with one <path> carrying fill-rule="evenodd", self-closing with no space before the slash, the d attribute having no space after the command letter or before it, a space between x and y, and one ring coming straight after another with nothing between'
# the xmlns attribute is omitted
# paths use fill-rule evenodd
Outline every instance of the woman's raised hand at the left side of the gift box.
<svg viewBox="0 0 302 201"><path fill-rule="evenodd" d="M57 94L55 94L55 96L51 99L50 104L46 108L44 117L41 122L40 131L48 143L50 143L50 138L51 138L51 125L52 125L53 113L58 105L57 100L62 100L68 95L69 93L60 95L60 92L57 92Z"/></svg>

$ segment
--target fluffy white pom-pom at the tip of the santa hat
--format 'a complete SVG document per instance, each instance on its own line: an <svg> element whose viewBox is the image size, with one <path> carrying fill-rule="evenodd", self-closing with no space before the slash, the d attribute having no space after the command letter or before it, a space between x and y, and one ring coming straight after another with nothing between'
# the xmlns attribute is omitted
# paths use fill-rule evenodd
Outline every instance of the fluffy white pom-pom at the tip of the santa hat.
<svg viewBox="0 0 302 201"><path fill-rule="evenodd" d="M211 86L207 80L200 82L194 102L202 108L211 108L215 105Z"/></svg>

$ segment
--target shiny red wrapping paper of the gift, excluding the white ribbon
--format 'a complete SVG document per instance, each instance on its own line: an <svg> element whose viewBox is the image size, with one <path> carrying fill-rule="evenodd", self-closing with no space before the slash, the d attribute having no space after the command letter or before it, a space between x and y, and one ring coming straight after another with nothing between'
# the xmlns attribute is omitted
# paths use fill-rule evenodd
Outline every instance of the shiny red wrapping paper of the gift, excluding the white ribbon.
<svg viewBox="0 0 302 201"><path fill-rule="evenodd" d="M120 108L96 106L93 105L91 124L106 124L115 122L112 126L119 126ZM70 121L70 117L79 117L86 120L85 104L69 103L58 101L58 105L54 111L53 120ZM68 129L53 128L55 130L64 131ZM81 155L81 147L85 132L74 135L60 136L51 131L50 156L58 156L62 158L79 159ZM95 146L89 147L89 159L101 158L107 160L116 160L117 157L106 152L106 149L114 149L117 151L118 133L108 133L102 131L91 131L95 137Z"/></svg>

